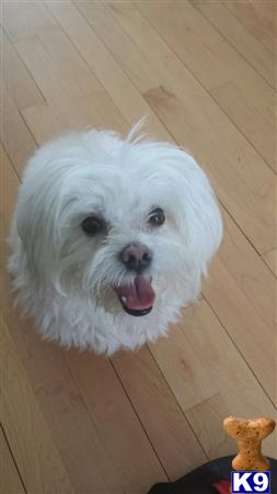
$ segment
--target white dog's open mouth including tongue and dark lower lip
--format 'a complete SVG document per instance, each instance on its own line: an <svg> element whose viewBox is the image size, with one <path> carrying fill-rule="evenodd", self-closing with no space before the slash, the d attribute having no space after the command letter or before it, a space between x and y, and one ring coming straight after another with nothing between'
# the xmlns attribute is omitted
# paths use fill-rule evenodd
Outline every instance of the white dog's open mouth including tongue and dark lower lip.
<svg viewBox="0 0 277 494"><path fill-rule="evenodd" d="M135 278L132 284L123 284L115 291L127 314L143 316L151 312L155 299L151 279L139 274Z"/></svg>

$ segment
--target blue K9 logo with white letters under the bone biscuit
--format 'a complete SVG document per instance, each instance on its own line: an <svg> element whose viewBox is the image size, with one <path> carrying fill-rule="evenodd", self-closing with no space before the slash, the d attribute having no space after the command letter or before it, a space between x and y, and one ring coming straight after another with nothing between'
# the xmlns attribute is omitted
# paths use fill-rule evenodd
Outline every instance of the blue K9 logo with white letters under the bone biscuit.
<svg viewBox="0 0 277 494"><path fill-rule="evenodd" d="M270 494L270 472L232 472L232 493Z"/></svg>

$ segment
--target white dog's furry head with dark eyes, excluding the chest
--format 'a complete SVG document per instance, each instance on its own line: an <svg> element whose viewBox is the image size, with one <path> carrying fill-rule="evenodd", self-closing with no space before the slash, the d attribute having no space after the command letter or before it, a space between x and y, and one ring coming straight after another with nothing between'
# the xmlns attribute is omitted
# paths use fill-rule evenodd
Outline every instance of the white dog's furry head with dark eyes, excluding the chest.
<svg viewBox="0 0 277 494"><path fill-rule="evenodd" d="M149 314L182 288L194 297L221 220L184 150L90 132L39 150L26 179L19 233L39 287L126 316Z"/></svg>

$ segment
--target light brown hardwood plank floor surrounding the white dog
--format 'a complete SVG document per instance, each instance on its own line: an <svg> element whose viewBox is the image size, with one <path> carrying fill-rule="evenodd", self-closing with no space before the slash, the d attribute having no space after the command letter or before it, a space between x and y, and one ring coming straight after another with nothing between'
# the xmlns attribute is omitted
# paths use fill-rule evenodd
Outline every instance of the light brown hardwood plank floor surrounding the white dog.
<svg viewBox="0 0 277 494"><path fill-rule="evenodd" d="M276 418L276 2L1 2L2 494L146 494L234 452L229 414ZM191 150L224 239L170 337L112 359L42 341L5 259L27 157L68 128ZM276 434L264 444L277 457Z"/></svg>

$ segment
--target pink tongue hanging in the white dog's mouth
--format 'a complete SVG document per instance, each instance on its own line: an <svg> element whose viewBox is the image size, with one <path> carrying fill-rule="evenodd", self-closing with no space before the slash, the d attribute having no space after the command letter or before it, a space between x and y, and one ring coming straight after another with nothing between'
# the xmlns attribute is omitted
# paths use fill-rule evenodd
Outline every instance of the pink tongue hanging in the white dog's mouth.
<svg viewBox="0 0 277 494"><path fill-rule="evenodd" d="M142 276L137 276L131 285L119 287L117 293L122 300L124 297L124 305L134 311L151 307L155 299L151 281Z"/></svg>

